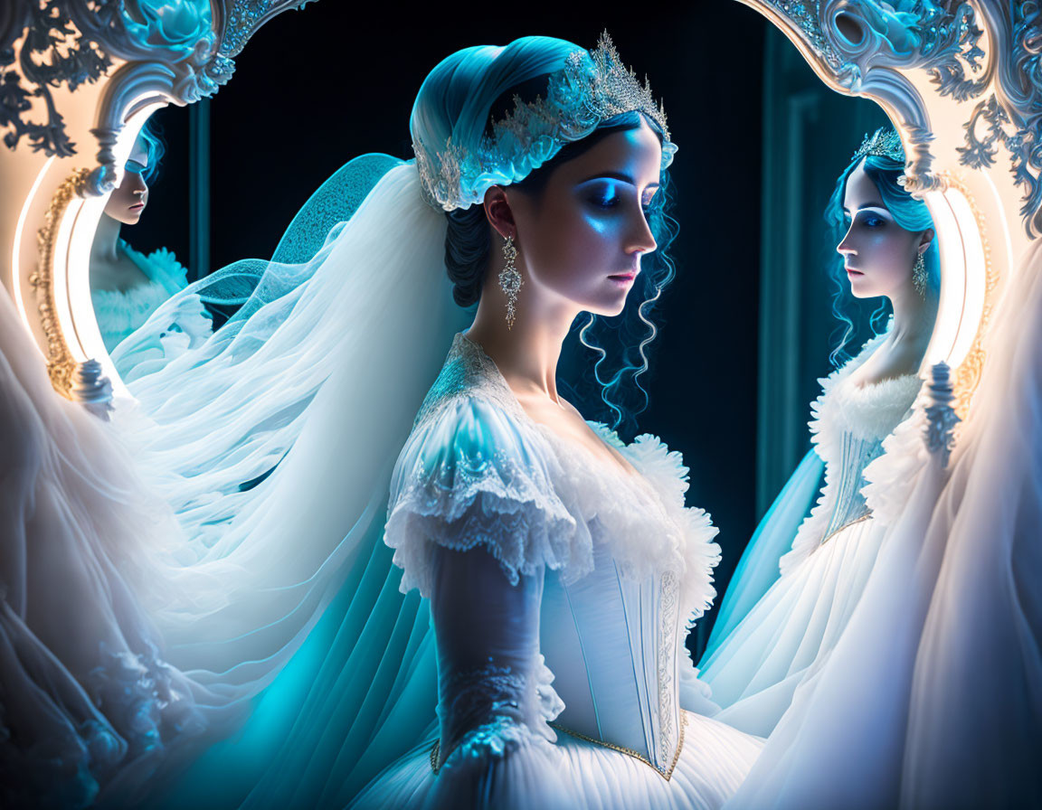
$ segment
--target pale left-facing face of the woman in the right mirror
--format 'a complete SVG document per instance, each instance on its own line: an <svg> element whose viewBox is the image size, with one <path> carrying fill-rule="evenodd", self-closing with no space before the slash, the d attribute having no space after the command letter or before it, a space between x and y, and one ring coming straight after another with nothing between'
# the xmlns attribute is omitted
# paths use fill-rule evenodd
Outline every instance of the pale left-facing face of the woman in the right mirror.
<svg viewBox="0 0 1042 810"><path fill-rule="evenodd" d="M849 228L836 250L854 298L893 296L912 283L921 233L904 230L883 204L862 160L847 177L843 212Z"/></svg>

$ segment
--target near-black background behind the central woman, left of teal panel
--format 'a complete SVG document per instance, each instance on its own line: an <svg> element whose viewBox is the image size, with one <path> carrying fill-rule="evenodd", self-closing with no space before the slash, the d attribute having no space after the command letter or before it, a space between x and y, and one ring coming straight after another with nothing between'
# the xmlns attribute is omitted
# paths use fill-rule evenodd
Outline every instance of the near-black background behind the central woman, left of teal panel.
<svg viewBox="0 0 1042 810"><path fill-rule="evenodd" d="M755 525L755 408L761 245L762 79L766 23L738 2L687 8L570 6L554 11L457 5L452 14L337 0L286 12L235 59L210 105L210 267L269 257L308 196L366 152L411 157L408 117L427 72L460 48L546 34L593 48L606 29L623 60L651 80L679 152L670 170L680 232L677 276L655 321L650 406L655 433L691 467L689 505L720 527L722 594ZM382 10L381 10L382 8ZM189 255L189 111L154 117L168 144L139 250ZM719 599L718 599L719 603ZM693 646L706 637L699 623Z"/></svg>

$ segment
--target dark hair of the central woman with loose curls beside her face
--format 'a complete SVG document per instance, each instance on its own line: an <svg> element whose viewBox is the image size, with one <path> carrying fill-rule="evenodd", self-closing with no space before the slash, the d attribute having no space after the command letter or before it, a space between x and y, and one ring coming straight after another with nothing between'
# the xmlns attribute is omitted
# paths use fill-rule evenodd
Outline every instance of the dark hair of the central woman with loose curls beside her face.
<svg viewBox="0 0 1042 810"><path fill-rule="evenodd" d="M540 76L503 93L492 107L487 131L491 132L493 121L504 118L514 108L515 97L524 101L534 99L545 92L546 82L547 77ZM660 141L663 138L662 129L652 120L636 110L623 112L602 121L581 141L563 146L551 160L513 186L538 197L556 167L578 157L614 132L637 129L642 122L648 124ZM669 176L668 172L663 172L661 187L647 214L659 247L642 257L641 273L637 277L640 289L631 293L641 297L641 303L637 306L627 303L620 314L611 318L584 313L585 317L580 315L572 325L572 334L595 352L596 360L585 374L562 381L562 387L581 403L584 413L601 419L616 430L629 432L635 429L637 414L648 404L647 391L639 378L648 370L647 347L658 333L650 314L662 290L675 275L667 253L677 232L676 221L669 216L670 202ZM480 204L447 211L446 217L445 267L453 283L452 297L460 306L476 306L491 263L492 226ZM611 351L605 346L610 346ZM630 381L634 384L626 385Z"/></svg>

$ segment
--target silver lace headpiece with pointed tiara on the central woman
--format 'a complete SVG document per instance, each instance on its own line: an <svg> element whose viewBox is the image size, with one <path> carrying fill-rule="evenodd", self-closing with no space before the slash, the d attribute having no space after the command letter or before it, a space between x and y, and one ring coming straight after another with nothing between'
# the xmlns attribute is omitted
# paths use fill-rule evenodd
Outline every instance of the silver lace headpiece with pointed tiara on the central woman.
<svg viewBox="0 0 1042 810"><path fill-rule="evenodd" d="M565 144L579 141L604 120L640 111L663 133L662 168L673 160L666 112L625 68L605 31L593 52L573 51L551 73L545 97L525 102L514 97L514 109L494 122L478 143L426 144L414 136L413 151L428 202L446 211L468 208L485 199L493 185L510 185L552 158Z"/></svg>

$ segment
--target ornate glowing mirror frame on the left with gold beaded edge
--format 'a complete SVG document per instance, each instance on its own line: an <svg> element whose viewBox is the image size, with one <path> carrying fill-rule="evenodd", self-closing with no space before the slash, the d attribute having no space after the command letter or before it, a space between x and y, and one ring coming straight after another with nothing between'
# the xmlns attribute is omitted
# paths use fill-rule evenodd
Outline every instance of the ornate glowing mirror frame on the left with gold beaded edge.
<svg viewBox="0 0 1042 810"><path fill-rule="evenodd" d="M121 387L89 256L144 123L213 96L253 33L311 0L13 0L0 7L0 277L60 394ZM90 155L94 153L94 156Z"/></svg>

